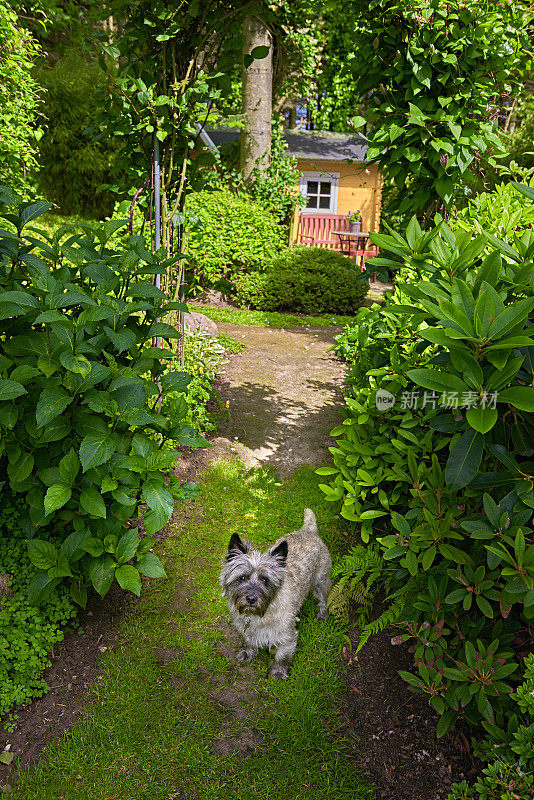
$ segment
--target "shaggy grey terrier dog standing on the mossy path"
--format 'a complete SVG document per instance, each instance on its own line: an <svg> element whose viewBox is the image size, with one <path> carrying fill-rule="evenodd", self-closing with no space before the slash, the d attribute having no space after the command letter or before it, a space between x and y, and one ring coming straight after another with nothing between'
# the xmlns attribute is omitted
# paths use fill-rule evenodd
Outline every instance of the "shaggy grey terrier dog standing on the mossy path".
<svg viewBox="0 0 534 800"><path fill-rule="evenodd" d="M279 539L267 552L232 535L222 572L223 597L244 646L237 660L249 662L261 647L276 647L271 675L283 680L297 646L297 615L313 589L319 602L317 619L328 617L332 560L319 537L315 514L304 511L304 524Z"/></svg>

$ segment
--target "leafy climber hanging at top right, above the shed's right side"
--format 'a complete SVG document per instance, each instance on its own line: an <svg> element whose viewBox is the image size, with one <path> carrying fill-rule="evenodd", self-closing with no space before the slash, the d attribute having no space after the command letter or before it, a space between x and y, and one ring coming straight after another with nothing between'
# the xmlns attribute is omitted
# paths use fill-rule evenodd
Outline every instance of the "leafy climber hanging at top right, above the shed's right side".
<svg viewBox="0 0 534 800"><path fill-rule="evenodd" d="M402 190L402 213L448 210L482 154L527 44L530 12L494 0L354 0L351 69L371 93L367 157Z"/></svg>

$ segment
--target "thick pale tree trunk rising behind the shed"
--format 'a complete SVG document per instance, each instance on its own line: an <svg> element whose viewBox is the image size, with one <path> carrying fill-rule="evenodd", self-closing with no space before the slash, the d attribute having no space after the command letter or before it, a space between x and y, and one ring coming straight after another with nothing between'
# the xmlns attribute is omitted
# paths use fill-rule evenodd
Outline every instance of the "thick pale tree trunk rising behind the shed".
<svg viewBox="0 0 534 800"><path fill-rule="evenodd" d="M273 96L273 38L258 17L245 17L243 56L255 47L266 46L265 58L255 59L250 66L243 64L243 116L241 131L241 173L246 184L253 181L256 167L269 166L271 152L271 115Z"/></svg>

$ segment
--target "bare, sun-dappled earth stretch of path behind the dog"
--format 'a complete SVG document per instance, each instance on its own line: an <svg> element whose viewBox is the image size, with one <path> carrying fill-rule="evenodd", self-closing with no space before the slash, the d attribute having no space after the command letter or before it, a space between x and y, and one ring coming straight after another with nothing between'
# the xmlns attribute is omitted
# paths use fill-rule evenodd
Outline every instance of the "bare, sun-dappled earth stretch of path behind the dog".
<svg viewBox="0 0 534 800"><path fill-rule="evenodd" d="M301 464L325 463L345 374L329 349L342 329L218 328L247 349L220 370L225 419L204 458L235 454L246 466L270 464L282 477Z"/></svg>

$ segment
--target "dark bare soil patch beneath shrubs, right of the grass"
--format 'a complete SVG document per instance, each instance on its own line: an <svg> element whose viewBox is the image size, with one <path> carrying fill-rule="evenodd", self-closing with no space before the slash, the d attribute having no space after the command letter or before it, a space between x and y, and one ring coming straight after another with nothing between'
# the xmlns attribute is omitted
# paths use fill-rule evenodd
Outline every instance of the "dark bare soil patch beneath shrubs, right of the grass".
<svg viewBox="0 0 534 800"><path fill-rule="evenodd" d="M436 738L437 715L398 674L413 670L412 657L391 635L372 637L355 655L353 630L353 647L343 652L351 747L377 800L441 800L453 782L474 777L468 738L461 731Z"/></svg>

